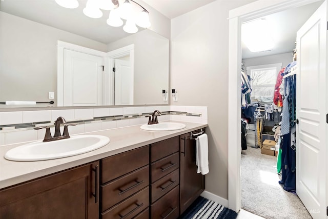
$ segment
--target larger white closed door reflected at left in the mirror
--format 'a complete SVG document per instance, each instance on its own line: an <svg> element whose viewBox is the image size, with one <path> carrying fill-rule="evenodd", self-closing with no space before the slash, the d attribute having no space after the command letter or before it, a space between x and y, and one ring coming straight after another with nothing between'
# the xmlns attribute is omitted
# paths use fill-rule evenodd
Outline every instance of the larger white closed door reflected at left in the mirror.
<svg viewBox="0 0 328 219"><path fill-rule="evenodd" d="M103 57L64 50L64 106L103 105Z"/></svg>

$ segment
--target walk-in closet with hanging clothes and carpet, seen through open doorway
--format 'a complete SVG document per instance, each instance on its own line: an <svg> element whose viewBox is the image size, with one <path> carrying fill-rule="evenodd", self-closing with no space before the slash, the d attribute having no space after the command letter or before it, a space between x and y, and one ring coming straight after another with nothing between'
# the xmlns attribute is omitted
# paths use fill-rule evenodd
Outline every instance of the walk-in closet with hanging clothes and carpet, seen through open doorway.
<svg viewBox="0 0 328 219"><path fill-rule="evenodd" d="M270 33L279 35L281 49L252 52L242 41L241 208L264 218L312 218L296 188L296 33L322 3L259 18L281 29ZM251 22L242 25L242 39L255 33Z"/></svg>

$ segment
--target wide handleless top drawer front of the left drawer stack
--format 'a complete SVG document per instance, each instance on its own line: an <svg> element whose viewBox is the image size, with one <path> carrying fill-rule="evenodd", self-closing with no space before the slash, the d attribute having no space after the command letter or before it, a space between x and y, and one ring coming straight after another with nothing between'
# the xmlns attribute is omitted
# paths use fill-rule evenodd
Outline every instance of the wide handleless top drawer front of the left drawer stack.
<svg viewBox="0 0 328 219"><path fill-rule="evenodd" d="M101 184L149 164L149 146L101 160Z"/></svg>

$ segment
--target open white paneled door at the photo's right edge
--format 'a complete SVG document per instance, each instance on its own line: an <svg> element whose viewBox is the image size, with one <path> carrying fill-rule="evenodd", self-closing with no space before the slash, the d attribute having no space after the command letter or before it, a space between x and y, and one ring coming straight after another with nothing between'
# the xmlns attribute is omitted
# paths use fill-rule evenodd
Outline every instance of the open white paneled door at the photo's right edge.
<svg viewBox="0 0 328 219"><path fill-rule="evenodd" d="M326 216L326 1L297 32L296 191L311 216Z"/></svg>

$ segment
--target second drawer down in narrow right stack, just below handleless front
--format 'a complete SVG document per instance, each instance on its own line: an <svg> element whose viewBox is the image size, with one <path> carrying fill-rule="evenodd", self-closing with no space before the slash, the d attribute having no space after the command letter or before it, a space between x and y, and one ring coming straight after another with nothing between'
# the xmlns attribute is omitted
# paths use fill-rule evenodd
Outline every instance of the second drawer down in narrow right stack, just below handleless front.
<svg viewBox="0 0 328 219"><path fill-rule="evenodd" d="M170 156L162 158L151 164L151 182L155 182L159 178L179 168L179 153L176 152Z"/></svg>

